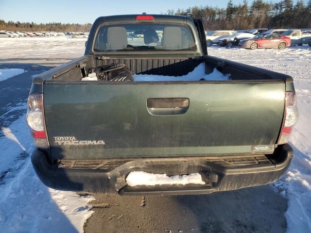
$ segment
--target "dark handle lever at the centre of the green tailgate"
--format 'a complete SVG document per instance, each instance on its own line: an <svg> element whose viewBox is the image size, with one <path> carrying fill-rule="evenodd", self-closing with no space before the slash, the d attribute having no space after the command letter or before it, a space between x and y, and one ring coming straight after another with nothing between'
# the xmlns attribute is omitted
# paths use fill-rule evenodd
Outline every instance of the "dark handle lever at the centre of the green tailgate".
<svg viewBox="0 0 311 233"><path fill-rule="evenodd" d="M188 108L188 98L156 98L147 100L148 108Z"/></svg>

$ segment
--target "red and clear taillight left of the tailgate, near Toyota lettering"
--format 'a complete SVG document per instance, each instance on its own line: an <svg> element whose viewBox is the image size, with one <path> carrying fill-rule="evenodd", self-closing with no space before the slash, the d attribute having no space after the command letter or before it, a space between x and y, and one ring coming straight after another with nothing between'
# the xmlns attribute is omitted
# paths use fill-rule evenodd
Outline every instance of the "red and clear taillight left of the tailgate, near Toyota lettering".
<svg viewBox="0 0 311 233"><path fill-rule="evenodd" d="M28 97L27 124L38 148L49 148L49 142L44 123L43 95L31 94Z"/></svg>

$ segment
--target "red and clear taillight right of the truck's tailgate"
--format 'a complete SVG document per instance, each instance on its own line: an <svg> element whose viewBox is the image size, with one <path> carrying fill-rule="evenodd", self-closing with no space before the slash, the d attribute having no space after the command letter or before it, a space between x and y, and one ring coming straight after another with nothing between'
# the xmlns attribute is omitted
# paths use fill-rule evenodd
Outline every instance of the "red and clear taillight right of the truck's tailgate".
<svg viewBox="0 0 311 233"><path fill-rule="evenodd" d="M285 110L283 117L283 124L281 129L281 135L277 144L288 143L292 129L298 120L298 110L296 105L296 95L294 92L285 92Z"/></svg>

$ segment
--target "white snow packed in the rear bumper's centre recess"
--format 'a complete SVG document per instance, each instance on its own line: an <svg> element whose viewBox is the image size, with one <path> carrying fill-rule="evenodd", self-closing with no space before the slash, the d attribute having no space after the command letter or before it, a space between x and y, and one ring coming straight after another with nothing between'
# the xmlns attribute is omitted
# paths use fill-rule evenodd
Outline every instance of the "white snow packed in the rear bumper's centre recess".
<svg viewBox="0 0 311 233"><path fill-rule="evenodd" d="M154 174L144 171L132 171L126 177L126 183L130 186L137 185L161 185L161 184L205 184L199 173L189 175L167 176L166 174Z"/></svg>

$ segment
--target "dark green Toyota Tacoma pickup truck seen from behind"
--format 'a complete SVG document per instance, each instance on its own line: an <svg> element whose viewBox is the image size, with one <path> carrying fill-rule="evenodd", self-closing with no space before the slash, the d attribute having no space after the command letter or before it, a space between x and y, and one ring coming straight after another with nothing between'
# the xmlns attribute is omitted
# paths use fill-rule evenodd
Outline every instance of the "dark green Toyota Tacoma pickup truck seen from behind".
<svg viewBox="0 0 311 233"><path fill-rule="evenodd" d="M135 38L140 31L143 38ZM160 36L159 36L160 35ZM169 81L84 80L121 64ZM227 80L182 80L196 67ZM119 195L208 194L273 183L293 157L292 77L207 55L203 23L186 16L99 17L85 55L33 79L27 123L40 180ZM134 185L133 171L203 183Z"/></svg>

